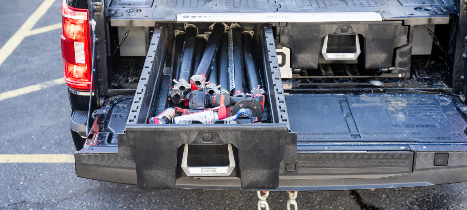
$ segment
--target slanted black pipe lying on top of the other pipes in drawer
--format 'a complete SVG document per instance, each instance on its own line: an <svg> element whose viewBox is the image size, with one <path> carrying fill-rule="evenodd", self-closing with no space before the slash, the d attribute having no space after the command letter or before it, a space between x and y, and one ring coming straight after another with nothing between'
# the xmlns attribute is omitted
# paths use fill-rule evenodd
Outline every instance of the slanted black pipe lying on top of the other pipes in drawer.
<svg viewBox="0 0 467 210"><path fill-rule="evenodd" d="M216 23L212 27L212 33L209 35L209 38L206 43L206 48L203 53L203 57L199 62L199 66L196 69L196 72L193 75L202 75L206 78L209 74L209 70L212 65L212 60L217 53L217 48L219 47L220 39L224 33L225 27L223 23ZM198 85L197 85L198 86Z"/></svg>

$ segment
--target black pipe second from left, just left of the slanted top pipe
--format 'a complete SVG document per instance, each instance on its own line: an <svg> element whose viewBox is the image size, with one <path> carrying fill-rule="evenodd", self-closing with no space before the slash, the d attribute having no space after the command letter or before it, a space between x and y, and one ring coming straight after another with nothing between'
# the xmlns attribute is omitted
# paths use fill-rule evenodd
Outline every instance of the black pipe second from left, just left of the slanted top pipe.
<svg viewBox="0 0 467 210"><path fill-rule="evenodd" d="M188 26L185 29L185 43L183 47L182 61L180 63L180 75L178 75L178 81L190 80L197 32L198 29L194 26Z"/></svg>

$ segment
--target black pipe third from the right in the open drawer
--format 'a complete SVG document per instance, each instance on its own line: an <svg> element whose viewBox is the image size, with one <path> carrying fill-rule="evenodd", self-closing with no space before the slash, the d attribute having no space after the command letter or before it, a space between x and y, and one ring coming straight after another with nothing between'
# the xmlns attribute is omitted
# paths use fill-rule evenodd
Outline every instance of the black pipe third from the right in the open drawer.
<svg viewBox="0 0 467 210"><path fill-rule="evenodd" d="M220 91L226 91L227 94L230 94L229 89L229 40L228 34L222 34L222 40L220 41L219 45L219 53L217 54L218 58L218 71L219 74L217 75L217 81L220 85Z"/></svg>

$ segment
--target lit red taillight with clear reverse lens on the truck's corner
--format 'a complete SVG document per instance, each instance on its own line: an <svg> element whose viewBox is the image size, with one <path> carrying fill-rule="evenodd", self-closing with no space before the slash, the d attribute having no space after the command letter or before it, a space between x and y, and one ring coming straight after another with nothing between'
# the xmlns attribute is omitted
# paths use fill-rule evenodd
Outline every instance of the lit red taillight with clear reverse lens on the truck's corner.
<svg viewBox="0 0 467 210"><path fill-rule="evenodd" d="M88 10L62 4L62 57L64 77L70 88L91 89L91 43Z"/></svg>

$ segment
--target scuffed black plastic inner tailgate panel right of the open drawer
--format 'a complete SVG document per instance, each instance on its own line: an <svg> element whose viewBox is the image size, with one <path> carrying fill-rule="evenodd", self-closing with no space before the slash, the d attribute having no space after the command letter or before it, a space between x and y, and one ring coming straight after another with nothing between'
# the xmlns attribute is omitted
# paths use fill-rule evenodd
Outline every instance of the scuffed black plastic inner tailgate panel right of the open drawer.
<svg viewBox="0 0 467 210"><path fill-rule="evenodd" d="M467 142L457 104L441 95L288 95L298 142Z"/></svg>

